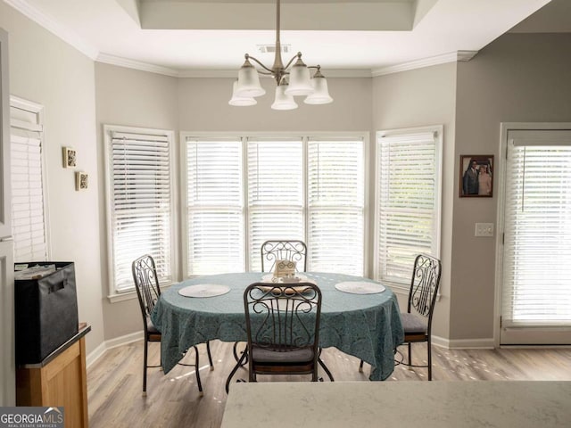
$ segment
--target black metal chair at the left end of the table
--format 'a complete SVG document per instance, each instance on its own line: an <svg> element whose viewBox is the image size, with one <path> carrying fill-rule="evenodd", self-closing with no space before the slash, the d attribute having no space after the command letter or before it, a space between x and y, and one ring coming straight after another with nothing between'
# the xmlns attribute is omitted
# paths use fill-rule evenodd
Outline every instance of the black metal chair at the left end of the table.
<svg viewBox="0 0 571 428"><path fill-rule="evenodd" d="M146 370L147 368L161 367L148 365L148 348L149 342L161 342L161 332L153 325L151 321L151 313L153 312L154 305L161 295L161 287L159 286L159 278L157 276L157 269L154 264L153 257L148 254L139 257L131 266L133 272L133 280L135 281L135 288L137 290L137 297L139 305L141 306L141 314L143 315L143 326L145 329L145 356L143 358L143 397L146 397ZM196 383L198 384L198 391L203 395L203 385L200 382L199 373L199 360L198 349L194 346L194 364L183 364L182 366L193 366L196 372ZM206 342L206 350L208 353L208 360L211 370L214 368L212 365L211 348L209 342ZM162 363L162 361L161 361Z"/></svg>

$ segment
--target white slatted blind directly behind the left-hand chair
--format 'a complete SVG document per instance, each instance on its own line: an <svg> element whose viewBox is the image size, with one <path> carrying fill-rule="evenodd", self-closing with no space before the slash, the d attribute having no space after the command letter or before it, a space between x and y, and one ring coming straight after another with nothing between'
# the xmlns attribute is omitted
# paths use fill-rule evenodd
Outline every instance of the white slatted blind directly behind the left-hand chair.
<svg viewBox="0 0 571 428"><path fill-rule="evenodd" d="M134 288L131 263L150 254L159 281L172 281L171 136L110 129L106 147L112 284L115 292Z"/></svg>

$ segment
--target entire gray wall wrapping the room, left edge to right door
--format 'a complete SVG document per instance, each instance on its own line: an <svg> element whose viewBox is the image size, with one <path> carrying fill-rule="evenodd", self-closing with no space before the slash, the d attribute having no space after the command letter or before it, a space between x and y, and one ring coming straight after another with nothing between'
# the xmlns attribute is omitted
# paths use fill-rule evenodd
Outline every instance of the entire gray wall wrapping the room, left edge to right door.
<svg viewBox="0 0 571 428"><path fill-rule="evenodd" d="M11 94L46 107L52 259L77 264L79 317L93 327L88 351L141 330L137 300L111 304L106 298L103 123L175 131L372 133L443 124L443 298L434 333L456 343L492 340L495 241L475 238L474 224L495 223L497 188L491 199L460 199L459 155L494 154L498 165L502 121L571 121L571 35L507 34L470 62L331 78L335 103L271 111L270 80L263 82L269 94L259 105L238 109L227 103L230 78L169 78L94 65L4 3L0 27L10 35ZM76 192L74 170L62 169L63 145L77 149L76 170L90 176L87 191Z"/></svg>

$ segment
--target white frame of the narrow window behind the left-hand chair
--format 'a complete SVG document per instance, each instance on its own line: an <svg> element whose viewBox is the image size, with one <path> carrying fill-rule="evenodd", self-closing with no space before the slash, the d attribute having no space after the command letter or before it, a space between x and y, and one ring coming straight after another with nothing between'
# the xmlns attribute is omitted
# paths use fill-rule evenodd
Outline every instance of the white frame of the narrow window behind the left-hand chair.
<svg viewBox="0 0 571 428"><path fill-rule="evenodd" d="M124 291L118 291L115 287L115 272L113 270L113 239L112 239L112 177L111 177L111 144L112 133L122 132L131 134L143 134L145 136L166 136L169 143L169 156L170 156L170 283L161 283L161 287L167 287L170 284L178 281L178 241L176 240L178 231L178 186L176 180L176 141L175 132L169 129L158 128L137 128L120 125L103 125L103 169L105 177L105 221L107 226L107 269L108 269L108 292L107 298L111 302L130 300L135 298L136 290L135 284L132 288Z"/></svg>

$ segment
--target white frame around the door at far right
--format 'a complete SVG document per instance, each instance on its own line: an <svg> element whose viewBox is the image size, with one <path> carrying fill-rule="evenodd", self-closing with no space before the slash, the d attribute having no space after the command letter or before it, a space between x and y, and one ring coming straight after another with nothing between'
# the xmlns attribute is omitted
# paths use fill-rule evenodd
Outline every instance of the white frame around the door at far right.
<svg viewBox="0 0 571 428"><path fill-rule="evenodd" d="M513 130L565 130L571 129L571 122L501 122L500 136L500 161L496 162L496 185L498 189L498 207L496 216L496 271L495 271L495 296L493 317L493 342L496 348L500 348L501 338L501 287L503 272L503 233L504 233L504 209L505 209L505 184L506 184L506 157L508 153L508 133Z"/></svg>

